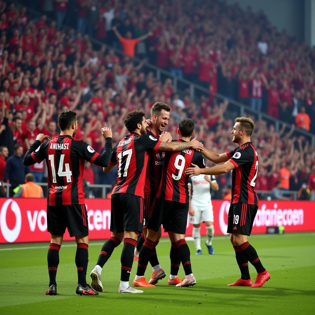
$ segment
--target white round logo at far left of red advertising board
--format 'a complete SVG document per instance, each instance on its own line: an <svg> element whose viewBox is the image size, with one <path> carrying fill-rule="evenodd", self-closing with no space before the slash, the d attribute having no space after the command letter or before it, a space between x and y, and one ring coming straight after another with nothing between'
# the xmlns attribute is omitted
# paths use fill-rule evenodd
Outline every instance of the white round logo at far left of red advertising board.
<svg viewBox="0 0 315 315"><path fill-rule="evenodd" d="M11 211L15 215L15 226L12 230L9 229L8 224L7 224L8 209L11 209ZM9 243L13 243L20 235L21 226L22 226L22 216L21 216L20 207L16 203L16 201L12 199L8 199L7 201L5 201L5 203L3 203L3 206L0 212L0 228L1 228L1 233L3 235L3 238Z"/></svg>

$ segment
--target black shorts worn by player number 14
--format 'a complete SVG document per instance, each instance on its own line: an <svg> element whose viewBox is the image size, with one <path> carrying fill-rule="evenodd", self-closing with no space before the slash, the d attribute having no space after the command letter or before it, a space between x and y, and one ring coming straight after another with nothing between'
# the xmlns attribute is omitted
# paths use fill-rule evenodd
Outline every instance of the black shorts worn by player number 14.
<svg viewBox="0 0 315 315"><path fill-rule="evenodd" d="M47 205L47 231L53 235L62 235L66 228L71 237L89 235L85 204Z"/></svg>

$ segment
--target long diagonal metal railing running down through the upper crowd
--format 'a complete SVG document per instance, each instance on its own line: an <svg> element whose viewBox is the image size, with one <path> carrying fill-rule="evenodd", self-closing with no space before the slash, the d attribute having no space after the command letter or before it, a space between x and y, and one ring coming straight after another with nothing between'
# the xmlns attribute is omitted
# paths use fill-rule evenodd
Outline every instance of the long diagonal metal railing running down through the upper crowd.
<svg viewBox="0 0 315 315"><path fill-rule="evenodd" d="M19 3L21 5L21 3L19 1L15 1L15 2ZM29 13L31 13L33 15L32 18L39 18L39 16L41 15L41 13L36 11L36 10L30 9L30 8L28 8L27 10ZM48 20L51 20L51 19L48 19ZM67 30L70 29L70 27L67 25L62 25L62 27L67 29ZM95 38L90 38L90 41L99 47L106 44L106 43L102 43L101 41L99 41ZM106 46L108 46L108 45L106 44ZM113 49L117 55L123 56L123 57L126 56L125 54L123 54L122 51L117 50L117 49L110 47L110 46L108 46L108 47ZM141 60L139 58L134 57L132 59L134 61L136 61L137 63L141 62ZM206 88L204 88L204 87L202 87L196 83L193 83L191 81L187 81L183 78L176 77L173 74L171 74L169 71L158 68L157 66L154 66L154 65L149 64L149 63L145 63L143 67L147 71L153 71L155 73L155 77L158 80L171 78L173 81L173 87L174 87L175 93L177 93L179 90L189 89L189 94L190 94L190 97L192 98L192 100L195 99L195 97L197 95L209 96L209 90L208 89L206 89ZM283 124L285 124L287 128L289 128L289 129L291 128L291 125L289 123L285 123L279 119L268 116L265 113L256 111L255 109L252 109L250 106L244 105L244 104L242 104L236 100L229 99L228 97L226 97L224 95L215 93L214 96L218 99L221 99L221 100L229 100L230 104L229 104L229 107L227 108L227 111L226 111L226 115L230 116L229 118L235 117L235 116L233 116L233 115L235 115L234 113L236 113L238 116L243 116L244 113L246 113L247 115L254 116L255 118L257 118L259 120L261 120L263 118L264 120L268 121L269 123L270 122L274 123L275 124L275 130L277 132L280 130L280 125L283 125ZM307 132L303 129L298 129L298 128L295 129L295 132L297 132L301 135L305 135L310 140L310 143L312 144L312 146L315 146L315 135L313 135L312 133Z"/></svg>

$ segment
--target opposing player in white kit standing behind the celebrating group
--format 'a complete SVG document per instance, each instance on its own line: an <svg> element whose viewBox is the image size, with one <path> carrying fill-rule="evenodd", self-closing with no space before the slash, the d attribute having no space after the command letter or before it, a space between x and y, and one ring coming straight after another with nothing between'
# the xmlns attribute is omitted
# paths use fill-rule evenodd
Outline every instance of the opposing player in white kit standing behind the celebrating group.
<svg viewBox="0 0 315 315"><path fill-rule="evenodd" d="M213 226L213 209L211 203L211 189L217 191L219 190L219 185L215 180L215 176L211 175L197 175L192 176L188 182L190 203L189 203L189 216L190 223L193 224L192 237L194 238L194 243L197 249L196 255L201 255L200 246L200 223L204 222L207 228L207 241L206 246L208 248L209 254L213 255L215 253L212 248L212 238L214 236L214 226Z"/></svg>

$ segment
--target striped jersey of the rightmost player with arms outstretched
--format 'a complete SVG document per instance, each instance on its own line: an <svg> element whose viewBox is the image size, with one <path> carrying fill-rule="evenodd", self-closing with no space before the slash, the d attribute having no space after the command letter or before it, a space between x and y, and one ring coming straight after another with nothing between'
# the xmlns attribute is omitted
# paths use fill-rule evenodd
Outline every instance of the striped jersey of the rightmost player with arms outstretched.
<svg viewBox="0 0 315 315"><path fill-rule="evenodd" d="M231 203L249 203L258 206L259 200L255 192L258 154L255 146L251 142L246 142L226 154L236 167L232 170Z"/></svg>

